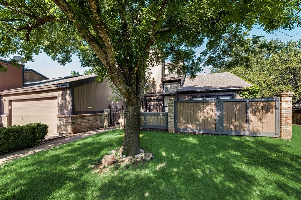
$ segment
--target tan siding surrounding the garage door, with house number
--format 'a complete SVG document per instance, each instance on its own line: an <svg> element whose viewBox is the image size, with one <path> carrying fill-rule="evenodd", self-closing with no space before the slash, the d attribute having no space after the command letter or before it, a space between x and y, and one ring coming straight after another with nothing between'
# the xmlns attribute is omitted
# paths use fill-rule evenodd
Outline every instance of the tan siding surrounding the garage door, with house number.
<svg viewBox="0 0 301 200"><path fill-rule="evenodd" d="M41 97L51 97L51 96L59 97L58 112L61 115L71 114L71 94L69 88L2 95L2 98L5 99L3 112L4 113L9 112L9 107L8 107L9 100L41 98Z"/></svg>

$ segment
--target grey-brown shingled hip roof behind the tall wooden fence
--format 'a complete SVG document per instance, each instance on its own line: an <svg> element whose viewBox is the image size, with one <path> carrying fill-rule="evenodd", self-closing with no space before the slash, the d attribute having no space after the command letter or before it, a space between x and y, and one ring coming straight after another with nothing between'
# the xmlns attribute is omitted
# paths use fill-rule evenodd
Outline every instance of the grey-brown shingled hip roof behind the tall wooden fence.
<svg viewBox="0 0 301 200"><path fill-rule="evenodd" d="M211 91L226 89L242 89L253 86L230 72L197 75L192 81L186 78L177 92L184 91Z"/></svg>

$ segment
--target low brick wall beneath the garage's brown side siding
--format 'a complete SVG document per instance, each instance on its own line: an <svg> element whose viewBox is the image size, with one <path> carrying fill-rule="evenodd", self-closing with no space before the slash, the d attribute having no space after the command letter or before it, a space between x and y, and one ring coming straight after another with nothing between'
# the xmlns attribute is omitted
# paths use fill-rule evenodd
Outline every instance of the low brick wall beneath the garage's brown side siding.
<svg viewBox="0 0 301 200"><path fill-rule="evenodd" d="M104 127L103 113L84 115L57 115L57 133L79 133Z"/></svg>

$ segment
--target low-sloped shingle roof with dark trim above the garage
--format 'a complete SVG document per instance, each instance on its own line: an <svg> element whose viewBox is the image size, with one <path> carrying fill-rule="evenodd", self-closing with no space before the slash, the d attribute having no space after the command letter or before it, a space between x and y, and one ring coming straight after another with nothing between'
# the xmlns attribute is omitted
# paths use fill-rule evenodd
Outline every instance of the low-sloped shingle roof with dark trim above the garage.
<svg viewBox="0 0 301 200"><path fill-rule="evenodd" d="M72 85L94 81L95 77L96 75L94 74L88 74L88 75L73 76L71 78L68 77L67 79L59 79L53 81L51 81L51 79L47 79L34 85L0 91L0 94L13 94L13 93L20 93L20 92L36 91L36 90L66 88Z"/></svg>

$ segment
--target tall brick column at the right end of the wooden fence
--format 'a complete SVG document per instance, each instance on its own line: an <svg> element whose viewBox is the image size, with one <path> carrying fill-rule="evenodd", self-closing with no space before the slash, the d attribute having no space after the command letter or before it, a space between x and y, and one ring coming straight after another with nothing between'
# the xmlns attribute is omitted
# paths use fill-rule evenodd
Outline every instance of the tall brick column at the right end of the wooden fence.
<svg viewBox="0 0 301 200"><path fill-rule="evenodd" d="M277 94L280 97L280 137L292 139L293 92L284 91Z"/></svg>

